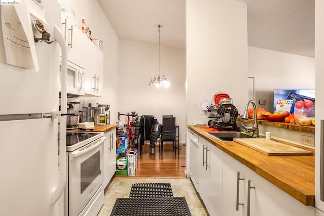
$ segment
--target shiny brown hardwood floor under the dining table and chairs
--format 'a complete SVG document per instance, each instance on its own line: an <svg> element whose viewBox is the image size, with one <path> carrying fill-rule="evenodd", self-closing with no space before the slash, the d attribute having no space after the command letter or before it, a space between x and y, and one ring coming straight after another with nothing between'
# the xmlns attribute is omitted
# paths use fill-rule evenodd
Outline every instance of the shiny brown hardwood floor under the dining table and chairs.
<svg viewBox="0 0 324 216"><path fill-rule="evenodd" d="M135 147L131 147L134 150ZM160 156L159 142L154 149L145 143L142 154L139 155L139 164L136 176L115 175L115 178L186 178L186 146L180 143L180 154L172 151L172 143L163 144L163 154Z"/></svg>

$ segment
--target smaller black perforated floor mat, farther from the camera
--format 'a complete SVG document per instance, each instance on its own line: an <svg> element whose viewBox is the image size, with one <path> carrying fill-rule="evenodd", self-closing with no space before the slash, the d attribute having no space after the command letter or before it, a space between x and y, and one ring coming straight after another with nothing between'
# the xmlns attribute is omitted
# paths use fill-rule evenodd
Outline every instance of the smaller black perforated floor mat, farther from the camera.
<svg viewBox="0 0 324 216"><path fill-rule="evenodd" d="M133 184L130 198L173 197L170 183Z"/></svg>

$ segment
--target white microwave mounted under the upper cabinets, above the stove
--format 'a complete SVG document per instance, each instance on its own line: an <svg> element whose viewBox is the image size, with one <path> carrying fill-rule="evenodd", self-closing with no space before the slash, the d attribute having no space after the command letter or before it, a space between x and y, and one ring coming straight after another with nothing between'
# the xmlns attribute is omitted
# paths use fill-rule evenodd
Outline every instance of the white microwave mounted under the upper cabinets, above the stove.
<svg viewBox="0 0 324 216"><path fill-rule="evenodd" d="M60 72L61 72L61 65L60 65ZM66 90L68 94L85 95L84 68L70 61L67 61Z"/></svg>

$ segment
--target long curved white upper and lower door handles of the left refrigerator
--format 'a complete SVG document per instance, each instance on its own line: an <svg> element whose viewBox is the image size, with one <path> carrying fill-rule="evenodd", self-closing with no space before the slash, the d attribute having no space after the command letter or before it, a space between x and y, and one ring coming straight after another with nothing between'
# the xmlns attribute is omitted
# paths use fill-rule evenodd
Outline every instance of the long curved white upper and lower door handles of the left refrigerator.
<svg viewBox="0 0 324 216"><path fill-rule="evenodd" d="M67 91L66 91L66 79L67 79L67 45L65 39L61 34L60 29L54 26L54 36L56 41L61 47L62 53L62 66L61 66L61 110L67 109ZM63 84L65 83L65 84ZM57 187L52 191L51 204L54 205L61 197L66 183L66 116L60 117L60 142L59 142L59 162L60 162L60 178L58 180Z"/></svg>

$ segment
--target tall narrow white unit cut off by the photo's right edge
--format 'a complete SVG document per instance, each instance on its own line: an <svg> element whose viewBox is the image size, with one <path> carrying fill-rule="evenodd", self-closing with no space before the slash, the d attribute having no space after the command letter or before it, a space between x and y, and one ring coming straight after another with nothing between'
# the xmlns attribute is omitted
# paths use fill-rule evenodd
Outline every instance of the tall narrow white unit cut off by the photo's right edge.
<svg viewBox="0 0 324 216"><path fill-rule="evenodd" d="M315 215L324 216L324 0L315 1Z"/></svg>

